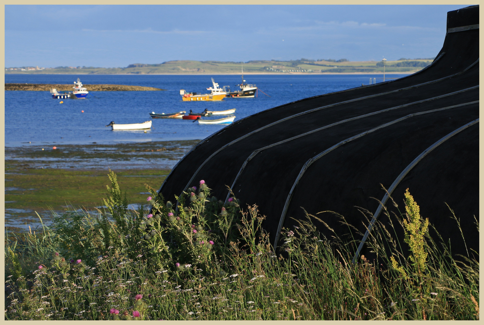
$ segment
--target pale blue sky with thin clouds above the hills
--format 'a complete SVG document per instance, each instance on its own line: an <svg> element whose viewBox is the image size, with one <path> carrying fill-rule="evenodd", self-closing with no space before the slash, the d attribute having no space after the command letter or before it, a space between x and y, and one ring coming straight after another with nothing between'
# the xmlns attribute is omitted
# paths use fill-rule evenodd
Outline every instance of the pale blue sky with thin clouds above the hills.
<svg viewBox="0 0 484 325"><path fill-rule="evenodd" d="M435 57L468 5L5 5L5 67Z"/></svg>

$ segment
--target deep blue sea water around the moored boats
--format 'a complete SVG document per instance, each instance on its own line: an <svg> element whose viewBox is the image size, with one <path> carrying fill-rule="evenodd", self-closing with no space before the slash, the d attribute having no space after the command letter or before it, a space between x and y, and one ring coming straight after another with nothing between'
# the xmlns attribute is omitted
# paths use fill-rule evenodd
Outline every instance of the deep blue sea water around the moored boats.
<svg viewBox="0 0 484 325"><path fill-rule="evenodd" d="M395 79L405 74L393 74ZM153 119L152 128L111 130L109 122L141 123L149 113L223 111L235 108L236 119L298 99L368 85L376 75L244 75L259 88L257 98L226 98L220 102L183 102L180 89L207 93L211 77L232 90L240 75L65 75L6 74L5 83L139 85L166 91L92 91L87 99L52 99L48 91L5 91L5 146L62 145L204 139L226 125L200 125L189 120ZM63 103L60 103L61 100ZM81 111L84 111L82 113Z"/></svg>

